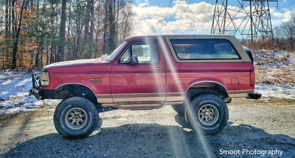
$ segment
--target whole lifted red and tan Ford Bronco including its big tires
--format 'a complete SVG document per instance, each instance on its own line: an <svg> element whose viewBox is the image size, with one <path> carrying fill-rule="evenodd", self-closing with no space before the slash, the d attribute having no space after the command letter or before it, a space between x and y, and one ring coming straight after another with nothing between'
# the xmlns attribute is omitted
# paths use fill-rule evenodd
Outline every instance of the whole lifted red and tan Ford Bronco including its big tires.
<svg viewBox="0 0 295 158"><path fill-rule="evenodd" d="M220 132L231 98L254 94L252 61L231 35L154 35L126 38L106 60L75 60L33 74L30 94L63 99L54 114L57 132L87 137L99 113L172 105L195 131Z"/></svg>

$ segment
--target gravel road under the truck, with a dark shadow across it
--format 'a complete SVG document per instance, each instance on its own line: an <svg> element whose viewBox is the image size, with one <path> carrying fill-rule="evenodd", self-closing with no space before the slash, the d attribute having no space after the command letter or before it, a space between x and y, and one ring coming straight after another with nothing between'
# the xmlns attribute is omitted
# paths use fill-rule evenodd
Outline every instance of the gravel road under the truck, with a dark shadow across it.
<svg viewBox="0 0 295 158"><path fill-rule="evenodd" d="M65 140L53 125L54 108L0 115L0 157L295 157L295 100L233 99L228 125L213 136L196 135L165 106L100 113L92 135Z"/></svg>

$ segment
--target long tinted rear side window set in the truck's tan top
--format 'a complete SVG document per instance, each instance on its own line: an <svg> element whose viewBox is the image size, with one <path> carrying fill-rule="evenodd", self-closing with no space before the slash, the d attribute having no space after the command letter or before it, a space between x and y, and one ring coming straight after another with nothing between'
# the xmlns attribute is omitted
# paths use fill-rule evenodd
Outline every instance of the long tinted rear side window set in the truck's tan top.
<svg viewBox="0 0 295 158"><path fill-rule="evenodd" d="M179 60L240 60L228 40L170 40Z"/></svg>

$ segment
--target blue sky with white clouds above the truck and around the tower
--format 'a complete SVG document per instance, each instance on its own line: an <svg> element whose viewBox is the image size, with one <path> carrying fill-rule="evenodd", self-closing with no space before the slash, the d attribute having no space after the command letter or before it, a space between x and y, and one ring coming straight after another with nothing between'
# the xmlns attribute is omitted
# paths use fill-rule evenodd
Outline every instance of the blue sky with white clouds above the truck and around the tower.
<svg viewBox="0 0 295 158"><path fill-rule="evenodd" d="M231 16L234 16L236 11L240 9L239 1L242 0L228 0L228 9L232 10L230 11ZM170 0L135 0L133 35L210 34L215 3L216 0L172 0L171 3ZM243 6L249 11L248 1L245 1ZM269 2L269 12L272 28L279 26L289 21L292 14L295 13L295 1ZM247 31L250 22L244 21L242 23L245 13L239 13L235 17L240 17L235 18L235 23ZM227 19L228 29L233 28L229 22ZM233 32L230 33L233 34Z"/></svg>

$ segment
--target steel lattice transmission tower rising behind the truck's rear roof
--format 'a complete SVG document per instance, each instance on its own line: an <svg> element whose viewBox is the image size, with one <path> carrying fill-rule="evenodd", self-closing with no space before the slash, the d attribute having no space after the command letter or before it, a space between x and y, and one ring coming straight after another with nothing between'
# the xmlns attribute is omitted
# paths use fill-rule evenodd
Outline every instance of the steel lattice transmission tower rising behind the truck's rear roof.
<svg viewBox="0 0 295 158"><path fill-rule="evenodd" d="M243 39L272 38L269 2L277 0L236 0L239 6L228 7L228 0L216 0L211 33L240 34Z"/></svg>

